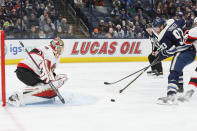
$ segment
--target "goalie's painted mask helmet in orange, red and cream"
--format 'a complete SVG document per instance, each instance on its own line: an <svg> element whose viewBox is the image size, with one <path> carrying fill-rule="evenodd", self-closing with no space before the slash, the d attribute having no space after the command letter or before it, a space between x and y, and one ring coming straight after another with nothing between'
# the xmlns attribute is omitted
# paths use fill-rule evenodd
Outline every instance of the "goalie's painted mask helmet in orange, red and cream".
<svg viewBox="0 0 197 131"><path fill-rule="evenodd" d="M50 42L50 46L54 51L56 57L59 57L64 52L64 42L59 38L56 37Z"/></svg>

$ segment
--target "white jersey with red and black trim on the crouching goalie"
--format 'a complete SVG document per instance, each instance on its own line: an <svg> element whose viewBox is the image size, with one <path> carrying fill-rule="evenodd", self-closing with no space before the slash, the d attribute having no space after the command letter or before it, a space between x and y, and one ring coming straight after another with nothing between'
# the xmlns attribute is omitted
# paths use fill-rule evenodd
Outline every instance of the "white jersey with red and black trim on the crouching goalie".
<svg viewBox="0 0 197 131"><path fill-rule="evenodd" d="M41 62L43 62L43 60L47 60L48 68L52 71L56 68L56 64L59 62L59 59L55 58L53 49L50 45L34 48L32 51L29 52L29 54L32 56L38 67ZM32 61L30 56L27 56L17 65L17 67L30 69L40 76L40 69L36 66L36 64Z"/></svg>

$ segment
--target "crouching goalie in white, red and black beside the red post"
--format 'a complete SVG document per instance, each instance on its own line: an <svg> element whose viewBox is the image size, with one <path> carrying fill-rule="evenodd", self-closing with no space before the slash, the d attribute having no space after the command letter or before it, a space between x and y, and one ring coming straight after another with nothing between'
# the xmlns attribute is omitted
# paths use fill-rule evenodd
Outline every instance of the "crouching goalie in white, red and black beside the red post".
<svg viewBox="0 0 197 131"><path fill-rule="evenodd" d="M14 92L8 98L8 103L21 106L53 100L56 93L50 87L49 82L52 82L58 89L67 80L65 74L57 75L54 72L63 51L64 42L59 37L53 39L49 45L31 50L29 54L32 58L27 56L19 62L15 71L17 78L26 87L20 92Z"/></svg>

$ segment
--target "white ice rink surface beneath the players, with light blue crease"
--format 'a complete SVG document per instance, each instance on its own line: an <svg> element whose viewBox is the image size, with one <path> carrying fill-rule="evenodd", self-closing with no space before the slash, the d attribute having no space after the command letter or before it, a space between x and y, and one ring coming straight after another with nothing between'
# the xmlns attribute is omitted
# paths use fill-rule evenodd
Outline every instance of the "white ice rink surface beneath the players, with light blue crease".
<svg viewBox="0 0 197 131"><path fill-rule="evenodd" d="M169 62L163 62L164 76L144 73L121 95L117 92L133 78L114 85L103 82L119 80L148 62L60 64L57 73L66 73L67 83L60 93L72 100L0 107L0 131L196 131L197 94L190 102L177 106L156 104L166 95ZM197 63L184 69L185 90ZM14 66L6 66L7 95L24 85L16 79ZM8 97L8 96L7 96ZM116 99L111 102L110 99Z"/></svg>

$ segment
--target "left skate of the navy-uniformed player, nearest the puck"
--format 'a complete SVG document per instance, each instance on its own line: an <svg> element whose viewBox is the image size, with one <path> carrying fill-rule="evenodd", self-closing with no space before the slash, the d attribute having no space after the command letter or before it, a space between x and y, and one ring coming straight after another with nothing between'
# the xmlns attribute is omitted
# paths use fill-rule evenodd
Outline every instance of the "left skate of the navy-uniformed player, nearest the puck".
<svg viewBox="0 0 197 131"><path fill-rule="evenodd" d="M157 99L157 104L160 105L177 105L176 94L167 95Z"/></svg>

